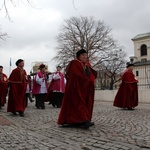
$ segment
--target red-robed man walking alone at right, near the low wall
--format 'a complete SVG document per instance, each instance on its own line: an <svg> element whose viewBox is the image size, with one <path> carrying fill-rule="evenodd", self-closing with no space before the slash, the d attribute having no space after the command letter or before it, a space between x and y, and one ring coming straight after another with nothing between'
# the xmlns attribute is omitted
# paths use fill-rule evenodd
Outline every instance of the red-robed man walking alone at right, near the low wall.
<svg viewBox="0 0 150 150"><path fill-rule="evenodd" d="M127 69L122 75L122 83L115 96L114 106L133 110L138 105L138 80L133 74L133 64L128 63Z"/></svg>

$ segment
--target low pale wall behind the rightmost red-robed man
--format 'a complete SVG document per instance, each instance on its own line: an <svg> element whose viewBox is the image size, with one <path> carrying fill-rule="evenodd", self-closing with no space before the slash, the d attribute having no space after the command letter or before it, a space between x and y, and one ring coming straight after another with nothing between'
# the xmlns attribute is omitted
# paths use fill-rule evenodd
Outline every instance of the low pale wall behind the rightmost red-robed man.
<svg viewBox="0 0 150 150"><path fill-rule="evenodd" d="M113 102L117 90L95 90L95 100ZM150 90L138 90L139 102L150 103Z"/></svg>

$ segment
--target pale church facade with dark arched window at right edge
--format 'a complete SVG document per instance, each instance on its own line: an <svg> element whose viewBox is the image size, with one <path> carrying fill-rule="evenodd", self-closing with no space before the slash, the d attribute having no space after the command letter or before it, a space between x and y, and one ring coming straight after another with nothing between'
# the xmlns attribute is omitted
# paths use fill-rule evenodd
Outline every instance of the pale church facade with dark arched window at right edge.
<svg viewBox="0 0 150 150"><path fill-rule="evenodd" d="M139 80L139 89L150 88L150 32L138 34L132 38L134 56L130 62L134 63L134 74Z"/></svg>

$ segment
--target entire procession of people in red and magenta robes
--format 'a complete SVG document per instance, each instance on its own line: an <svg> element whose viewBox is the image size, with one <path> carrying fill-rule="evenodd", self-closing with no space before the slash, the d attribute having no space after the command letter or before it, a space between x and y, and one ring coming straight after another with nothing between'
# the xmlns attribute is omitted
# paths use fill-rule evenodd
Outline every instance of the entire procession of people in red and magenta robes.
<svg viewBox="0 0 150 150"><path fill-rule="evenodd" d="M116 107L133 110L138 105L138 80L133 74L133 66L128 64L122 75L122 83L113 104ZM16 61L16 68L9 77L3 73L3 66L0 66L0 109L5 105L8 95L7 112L24 117L28 99L34 102L32 93L37 109L45 109L45 102L60 108L59 125L85 129L93 126L97 72L88 62L87 51L81 49L76 53L76 59L67 65L65 74L61 72L62 67L57 66L56 72L49 73L52 75L49 84L46 66L41 64L38 69L31 79L31 75L27 75L24 70L23 59Z"/></svg>

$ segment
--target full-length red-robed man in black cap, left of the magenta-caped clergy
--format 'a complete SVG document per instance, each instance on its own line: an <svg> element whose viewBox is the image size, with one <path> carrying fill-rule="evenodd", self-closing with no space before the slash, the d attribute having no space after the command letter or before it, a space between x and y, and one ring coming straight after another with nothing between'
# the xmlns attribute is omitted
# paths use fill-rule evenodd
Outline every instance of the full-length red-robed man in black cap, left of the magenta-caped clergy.
<svg viewBox="0 0 150 150"><path fill-rule="evenodd" d="M26 88L27 88L27 74L23 69L24 60L16 61L16 66L9 76L9 97L7 112L12 112L16 115L19 112L21 117L24 117L26 108Z"/></svg>

